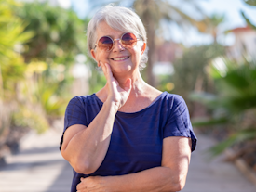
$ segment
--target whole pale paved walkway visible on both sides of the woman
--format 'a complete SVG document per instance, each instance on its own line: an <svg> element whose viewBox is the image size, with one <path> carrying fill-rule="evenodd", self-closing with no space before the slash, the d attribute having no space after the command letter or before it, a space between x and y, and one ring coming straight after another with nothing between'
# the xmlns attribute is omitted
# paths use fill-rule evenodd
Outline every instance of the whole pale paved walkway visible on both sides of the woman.
<svg viewBox="0 0 256 192"><path fill-rule="evenodd" d="M61 129L46 134L30 133L22 139L18 155L7 157L0 167L0 192L69 192L72 169L59 151ZM209 161L205 150L213 141L199 141L182 192L256 192L244 176L222 157Z"/></svg>

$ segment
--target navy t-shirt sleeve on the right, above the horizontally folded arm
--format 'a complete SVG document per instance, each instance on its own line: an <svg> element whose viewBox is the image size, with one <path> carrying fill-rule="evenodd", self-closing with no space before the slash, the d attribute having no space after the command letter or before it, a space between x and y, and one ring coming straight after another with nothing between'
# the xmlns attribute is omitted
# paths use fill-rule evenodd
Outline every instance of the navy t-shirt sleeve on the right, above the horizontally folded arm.
<svg viewBox="0 0 256 192"><path fill-rule="evenodd" d="M182 96L174 95L168 121L164 127L164 138L168 136L185 136L192 140L191 150L195 150L197 138L190 122L189 112Z"/></svg>

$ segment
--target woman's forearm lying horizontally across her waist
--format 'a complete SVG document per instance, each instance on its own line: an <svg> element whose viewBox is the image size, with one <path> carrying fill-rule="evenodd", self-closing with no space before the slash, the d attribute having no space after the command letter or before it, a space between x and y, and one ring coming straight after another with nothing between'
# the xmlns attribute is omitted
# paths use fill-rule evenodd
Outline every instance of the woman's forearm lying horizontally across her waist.
<svg viewBox="0 0 256 192"><path fill-rule="evenodd" d="M172 192L182 190L186 174L181 175L168 167L155 167L140 173L108 176L103 179L112 192Z"/></svg>

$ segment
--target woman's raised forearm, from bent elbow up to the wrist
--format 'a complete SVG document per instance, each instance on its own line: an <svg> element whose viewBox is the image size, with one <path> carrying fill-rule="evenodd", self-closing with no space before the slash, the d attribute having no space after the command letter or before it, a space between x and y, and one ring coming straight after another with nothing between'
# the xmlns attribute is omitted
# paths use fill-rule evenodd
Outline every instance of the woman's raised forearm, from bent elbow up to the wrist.
<svg viewBox="0 0 256 192"><path fill-rule="evenodd" d="M63 157L76 172L93 173L101 165L109 147L116 111L111 102L105 102L88 127L75 134L62 149Z"/></svg>

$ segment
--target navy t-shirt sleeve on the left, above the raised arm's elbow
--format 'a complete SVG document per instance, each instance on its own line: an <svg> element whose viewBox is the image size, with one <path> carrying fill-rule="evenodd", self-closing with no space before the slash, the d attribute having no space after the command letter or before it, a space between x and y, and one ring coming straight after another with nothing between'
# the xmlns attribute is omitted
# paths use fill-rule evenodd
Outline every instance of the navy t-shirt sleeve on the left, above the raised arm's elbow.
<svg viewBox="0 0 256 192"><path fill-rule="evenodd" d="M83 124L85 126L88 126L84 104L78 96L72 98L66 108L64 117L64 130L61 136L60 150L63 143L63 135L65 131L74 124Z"/></svg>

